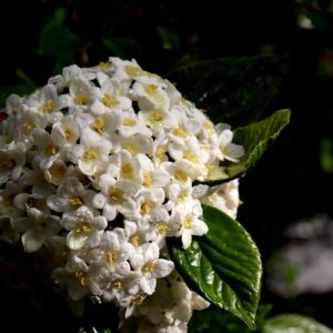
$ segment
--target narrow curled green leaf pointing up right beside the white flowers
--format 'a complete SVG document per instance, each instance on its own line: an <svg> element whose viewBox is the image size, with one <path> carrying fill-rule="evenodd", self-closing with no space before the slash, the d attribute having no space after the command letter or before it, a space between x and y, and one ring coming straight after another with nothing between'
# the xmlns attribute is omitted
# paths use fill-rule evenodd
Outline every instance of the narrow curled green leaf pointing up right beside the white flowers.
<svg viewBox="0 0 333 333"><path fill-rule="evenodd" d="M280 110L264 120L235 129L233 142L244 147L244 157L239 163L221 165L203 183L218 185L244 174L256 163L289 122L290 110Z"/></svg>

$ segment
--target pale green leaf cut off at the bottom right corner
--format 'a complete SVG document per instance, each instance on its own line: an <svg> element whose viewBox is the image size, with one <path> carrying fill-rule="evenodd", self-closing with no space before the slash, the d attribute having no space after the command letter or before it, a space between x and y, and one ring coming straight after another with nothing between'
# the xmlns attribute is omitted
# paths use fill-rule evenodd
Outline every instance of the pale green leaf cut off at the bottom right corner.
<svg viewBox="0 0 333 333"><path fill-rule="evenodd" d="M269 319L263 333L333 333L333 331L312 317L300 314L281 314Z"/></svg>

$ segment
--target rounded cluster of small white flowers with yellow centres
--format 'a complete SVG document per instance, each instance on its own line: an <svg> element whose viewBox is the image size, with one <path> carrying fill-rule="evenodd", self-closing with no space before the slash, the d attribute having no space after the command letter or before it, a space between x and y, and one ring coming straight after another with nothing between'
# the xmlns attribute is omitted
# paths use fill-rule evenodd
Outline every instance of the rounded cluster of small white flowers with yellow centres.
<svg viewBox="0 0 333 333"><path fill-rule="evenodd" d="M49 249L72 300L98 295L157 332L185 332L208 303L173 276L165 238L186 249L206 233L201 203L235 215L238 181L213 194L193 185L242 157L230 128L118 58L64 68L32 94L10 95L4 112L1 239Z"/></svg>

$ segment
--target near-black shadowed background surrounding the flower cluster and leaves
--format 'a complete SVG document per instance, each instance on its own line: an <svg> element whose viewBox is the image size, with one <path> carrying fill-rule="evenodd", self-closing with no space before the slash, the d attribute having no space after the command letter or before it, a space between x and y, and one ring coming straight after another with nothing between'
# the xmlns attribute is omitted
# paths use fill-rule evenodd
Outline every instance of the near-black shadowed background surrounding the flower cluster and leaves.
<svg viewBox="0 0 333 333"><path fill-rule="evenodd" d="M48 34L46 24L59 7L67 28ZM332 1L320 0L7 1L0 12L0 87L42 85L63 65L93 65L109 56L135 58L143 69L165 75L184 56L289 54L290 71L265 114L291 108L291 124L240 188L244 204L238 220L265 263L284 244L286 225L317 213L333 215L332 11ZM300 27L302 14L312 19L313 29ZM62 301L51 297L51 290L29 270L28 255L6 244L1 252L0 300L7 307L1 317L12 312L29 316L26 325L34 329L42 319L59 327L59 320L71 319L58 310ZM303 313L333 327L332 296L285 299L265 283L262 291L262 302L274 305L272 314ZM21 325L11 324L13 330Z"/></svg>

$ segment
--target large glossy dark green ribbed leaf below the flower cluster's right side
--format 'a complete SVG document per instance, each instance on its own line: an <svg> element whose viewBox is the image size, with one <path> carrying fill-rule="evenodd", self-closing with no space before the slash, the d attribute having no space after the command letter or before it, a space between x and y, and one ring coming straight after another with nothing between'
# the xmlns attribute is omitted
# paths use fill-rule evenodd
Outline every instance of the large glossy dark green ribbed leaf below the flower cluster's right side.
<svg viewBox="0 0 333 333"><path fill-rule="evenodd" d="M169 242L176 270L201 295L253 329L262 276L259 250L243 226L223 212L203 205L203 220L209 232L189 249Z"/></svg>

